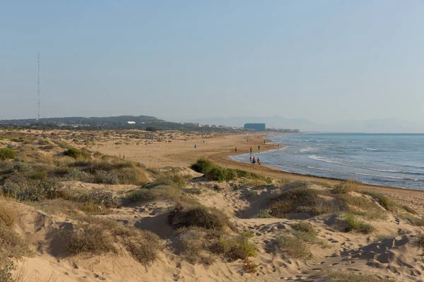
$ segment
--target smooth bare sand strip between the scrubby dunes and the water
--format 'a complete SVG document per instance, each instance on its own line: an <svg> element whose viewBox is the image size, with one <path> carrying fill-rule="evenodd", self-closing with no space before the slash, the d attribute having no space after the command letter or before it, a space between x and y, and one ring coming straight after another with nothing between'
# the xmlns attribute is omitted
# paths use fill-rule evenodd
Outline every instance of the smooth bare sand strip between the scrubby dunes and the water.
<svg viewBox="0 0 424 282"><path fill-rule="evenodd" d="M103 154L122 154L133 161L139 161L142 164L160 168L164 166L183 166L188 167L201 157L209 159L220 166L226 168L239 168L254 173L259 173L264 176L271 178L283 178L286 180L307 180L307 181L319 181L328 183L329 185L335 185L340 180L334 180L329 178L321 178L317 176L304 176L295 173L287 173L281 171L278 168L266 166L266 164L251 165L234 161L229 156L234 154L246 154L249 153L250 147L254 148L254 152L257 152L257 146L261 146L261 151L270 149L278 149L276 145L264 144L264 137L268 136L269 133L264 134L235 134L235 135L218 135L207 138L202 138L201 135L191 135L189 140L179 142L158 142L151 145L119 145L116 146L113 142L105 142L95 147ZM205 142L203 142L205 140ZM270 140L265 140L269 142ZM197 148L194 148L196 145ZM281 144L281 147L284 145ZM237 153L235 152L237 147ZM260 156L260 154L257 154ZM383 195L387 195L396 199L396 201L402 204L411 205L414 209L424 214L424 191L411 190L404 188L392 188L383 187L377 185L360 184L358 188L362 190L372 190L380 192Z"/></svg>

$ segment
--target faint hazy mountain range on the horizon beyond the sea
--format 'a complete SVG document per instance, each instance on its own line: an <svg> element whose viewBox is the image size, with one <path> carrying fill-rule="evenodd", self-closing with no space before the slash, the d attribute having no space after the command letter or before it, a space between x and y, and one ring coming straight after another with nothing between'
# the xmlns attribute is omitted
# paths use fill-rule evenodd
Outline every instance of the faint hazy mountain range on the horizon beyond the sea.
<svg viewBox="0 0 424 282"><path fill-rule="evenodd" d="M237 127L242 127L245 123L266 123L266 128L288 128L303 131L340 133L424 133L424 123L403 121L396 118L314 123L306 118L284 118L275 115L268 117L235 116L229 118L196 118L187 122L223 124Z"/></svg>

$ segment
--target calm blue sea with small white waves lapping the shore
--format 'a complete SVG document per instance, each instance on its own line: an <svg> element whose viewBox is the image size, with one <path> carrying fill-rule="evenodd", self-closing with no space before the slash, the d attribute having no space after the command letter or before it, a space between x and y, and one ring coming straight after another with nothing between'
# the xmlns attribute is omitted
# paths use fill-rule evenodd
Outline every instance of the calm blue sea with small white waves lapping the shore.
<svg viewBox="0 0 424 282"><path fill-rule="evenodd" d="M280 149L257 152L283 171L424 190L424 134L317 133L266 137ZM249 163L250 154L232 156Z"/></svg>

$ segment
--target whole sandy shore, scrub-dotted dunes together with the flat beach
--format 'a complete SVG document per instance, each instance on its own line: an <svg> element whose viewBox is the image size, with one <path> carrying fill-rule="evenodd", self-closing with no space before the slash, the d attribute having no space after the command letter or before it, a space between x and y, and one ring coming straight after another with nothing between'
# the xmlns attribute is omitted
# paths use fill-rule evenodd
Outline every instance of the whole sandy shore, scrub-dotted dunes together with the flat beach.
<svg viewBox="0 0 424 282"><path fill-rule="evenodd" d="M13 259L18 281L423 281L422 248L416 245L424 233L423 191L353 183L343 192L345 183L339 193L340 180L229 158L258 145L262 152L278 149L264 144L266 134L0 133L0 146L17 155L2 163L3 190L25 191L0 198L0 219L8 222L5 227L0 220L0 227L28 243L28 252ZM72 147L75 158L65 154ZM259 178L211 179L189 168L199 158ZM25 198L34 193L25 190L28 183L45 185L50 176L64 195ZM306 205L290 206L285 198L270 204L293 191L307 192L299 194ZM90 201L81 202L87 199L81 195L91 195ZM100 202L92 202L97 195ZM315 200L308 202L310 197ZM119 204L105 206L111 199ZM218 213L215 220L226 227L180 231L181 219L173 221L172 214L194 207ZM286 207L288 214L278 214Z"/></svg>

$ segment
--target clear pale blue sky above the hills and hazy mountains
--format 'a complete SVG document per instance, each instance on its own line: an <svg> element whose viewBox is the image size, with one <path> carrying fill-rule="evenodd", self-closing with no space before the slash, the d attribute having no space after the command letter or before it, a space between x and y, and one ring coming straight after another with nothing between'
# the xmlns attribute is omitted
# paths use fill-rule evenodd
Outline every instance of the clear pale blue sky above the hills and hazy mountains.
<svg viewBox="0 0 424 282"><path fill-rule="evenodd" d="M424 1L3 1L0 119L424 123Z"/></svg>

